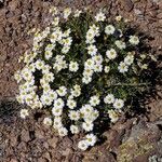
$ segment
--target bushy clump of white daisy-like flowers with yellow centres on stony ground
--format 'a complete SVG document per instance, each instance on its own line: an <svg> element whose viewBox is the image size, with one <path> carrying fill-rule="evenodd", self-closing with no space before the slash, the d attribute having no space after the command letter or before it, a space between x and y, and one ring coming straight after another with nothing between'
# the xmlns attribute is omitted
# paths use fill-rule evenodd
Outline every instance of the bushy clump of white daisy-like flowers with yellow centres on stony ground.
<svg viewBox="0 0 162 162"><path fill-rule="evenodd" d="M147 84L140 76L154 57L138 52L140 40L127 36L121 16L112 22L102 11L95 16L71 9L50 12L53 21L36 31L31 52L23 56L25 67L15 73L17 100L49 111L43 123L59 136L84 132L78 147L86 150L97 141L96 121L108 114L117 122L138 85ZM27 116L22 109L21 117Z"/></svg>

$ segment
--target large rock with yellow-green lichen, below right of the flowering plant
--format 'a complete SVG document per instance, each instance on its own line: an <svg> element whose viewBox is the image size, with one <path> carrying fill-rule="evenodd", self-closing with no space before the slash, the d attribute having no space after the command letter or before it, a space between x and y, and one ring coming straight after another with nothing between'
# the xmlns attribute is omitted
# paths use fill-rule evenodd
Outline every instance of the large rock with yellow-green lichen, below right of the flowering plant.
<svg viewBox="0 0 162 162"><path fill-rule="evenodd" d="M119 162L147 161L150 154L158 151L160 136L161 132L154 123L141 120L132 127L129 138L119 146L117 160Z"/></svg>

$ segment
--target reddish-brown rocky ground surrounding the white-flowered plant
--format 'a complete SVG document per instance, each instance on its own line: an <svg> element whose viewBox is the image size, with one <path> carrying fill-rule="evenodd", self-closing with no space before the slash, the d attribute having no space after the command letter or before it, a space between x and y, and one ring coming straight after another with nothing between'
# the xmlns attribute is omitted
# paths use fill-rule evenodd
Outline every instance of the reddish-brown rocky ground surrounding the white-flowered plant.
<svg viewBox="0 0 162 162"><path fill-rule="evenodd" d="M58 138L42 126L43 112L27 121L18 118L13 73L17 58L32 43L27 35L43 27L48 11L59 8L106 6L109 16L120 14L150 36L154 55L162 53L161 0L0 0L0 162L160 162L162 161L162 87L148 98L150 113L124 117L104 133L105 141L89 151L77 150L78 136Z"/></svg>

